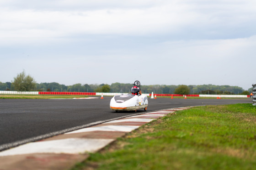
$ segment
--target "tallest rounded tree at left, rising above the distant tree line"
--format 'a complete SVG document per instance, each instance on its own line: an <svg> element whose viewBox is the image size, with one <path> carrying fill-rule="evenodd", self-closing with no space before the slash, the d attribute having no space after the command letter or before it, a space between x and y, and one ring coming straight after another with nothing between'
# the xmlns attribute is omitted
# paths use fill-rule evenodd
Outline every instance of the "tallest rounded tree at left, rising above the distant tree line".
<svg viewBox="0 0 256 170"><path fill-rule="evenodd" d="M32 91L36 88L36 81L30 75L26 75L25 70L17 74L11 83L16 91Z"/></svg>

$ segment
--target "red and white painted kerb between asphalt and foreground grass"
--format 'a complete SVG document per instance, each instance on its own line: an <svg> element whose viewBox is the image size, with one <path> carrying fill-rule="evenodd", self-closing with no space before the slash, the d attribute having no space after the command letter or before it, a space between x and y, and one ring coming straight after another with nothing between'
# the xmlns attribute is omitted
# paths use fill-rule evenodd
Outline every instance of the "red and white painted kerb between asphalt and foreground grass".
<svg viewBox="0 0 256 170"><path fill-rule="evenodd" d="M0 170L65 170L141 125L191 107L171 108L112 120L0 152Z"/></svg>

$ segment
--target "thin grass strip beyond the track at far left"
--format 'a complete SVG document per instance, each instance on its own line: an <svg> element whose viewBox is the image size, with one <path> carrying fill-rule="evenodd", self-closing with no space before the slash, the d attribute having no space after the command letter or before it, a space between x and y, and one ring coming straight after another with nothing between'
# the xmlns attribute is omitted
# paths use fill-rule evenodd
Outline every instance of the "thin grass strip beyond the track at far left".
<svg viewBox="0 0 256 170"><path fill-rule="evenodd" d="M87 95L0 95L0 99L73 99Z"/></svg>

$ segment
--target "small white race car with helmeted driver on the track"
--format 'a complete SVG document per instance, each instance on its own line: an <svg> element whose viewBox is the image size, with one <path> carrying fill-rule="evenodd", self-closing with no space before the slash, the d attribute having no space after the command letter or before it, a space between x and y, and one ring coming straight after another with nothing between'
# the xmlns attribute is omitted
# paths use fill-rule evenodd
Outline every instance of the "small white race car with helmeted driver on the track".
<svg viewBox="0 0 256 170"><path fill-rule="evenodd" d="M147 110L149 101L146 95L141 94L140 82L135 81L132 93L127 95L115 95L110 101L110 109L116 111Z"/></svg>

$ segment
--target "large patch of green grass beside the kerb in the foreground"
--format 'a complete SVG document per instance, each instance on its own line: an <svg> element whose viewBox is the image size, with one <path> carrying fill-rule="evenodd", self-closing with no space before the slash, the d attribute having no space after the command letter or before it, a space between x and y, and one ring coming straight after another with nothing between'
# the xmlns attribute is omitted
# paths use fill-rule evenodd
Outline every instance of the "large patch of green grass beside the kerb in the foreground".
<svg viewBox="0 0 256 170"><path fill-rule="evenodd" d="M72 170L254 170L256 106L202 106L152 121Z"/></svg>

